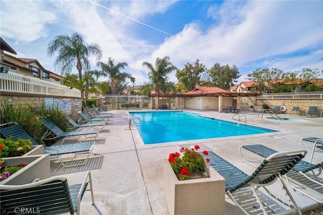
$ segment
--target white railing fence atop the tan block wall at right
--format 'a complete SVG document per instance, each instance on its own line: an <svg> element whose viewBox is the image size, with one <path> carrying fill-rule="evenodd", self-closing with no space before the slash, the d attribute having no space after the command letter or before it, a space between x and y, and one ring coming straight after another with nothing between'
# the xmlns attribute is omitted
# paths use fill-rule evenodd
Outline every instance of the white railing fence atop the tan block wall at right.
<svg viewBox="0 0 323 215"><path fill-rule="evenodd" d="M323 91L264 93L257 99L323 99Z"/></svg>

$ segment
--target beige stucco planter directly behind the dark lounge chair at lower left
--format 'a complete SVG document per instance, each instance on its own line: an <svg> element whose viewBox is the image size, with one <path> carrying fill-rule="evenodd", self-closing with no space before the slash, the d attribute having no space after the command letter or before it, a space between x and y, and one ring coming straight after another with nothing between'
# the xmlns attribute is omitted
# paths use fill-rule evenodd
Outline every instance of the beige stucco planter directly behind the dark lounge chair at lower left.
<svg viewBox="0 0 323 215"><path fill-rule="evenodd" d="M18 164L26 166L0 182L6 185L19 185L31 183L35 178L40 180L50 177L49 154L6 157L3 158L6 167L14 167Z"/></svg>

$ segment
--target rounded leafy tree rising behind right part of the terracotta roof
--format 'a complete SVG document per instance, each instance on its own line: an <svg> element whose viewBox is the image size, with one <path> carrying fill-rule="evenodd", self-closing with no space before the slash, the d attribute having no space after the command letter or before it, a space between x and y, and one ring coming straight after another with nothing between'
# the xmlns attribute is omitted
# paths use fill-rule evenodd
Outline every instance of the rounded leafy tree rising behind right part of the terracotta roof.
<svg viewBox="0 0 323 215"><path fill-rule="evenodd" d="M214 84L214 86L228 90L240 76L239 70L235 65L230 67L228 64L221 66L219 63L216 63L212 68L203 73L202 79L205 82Z"/></svg>

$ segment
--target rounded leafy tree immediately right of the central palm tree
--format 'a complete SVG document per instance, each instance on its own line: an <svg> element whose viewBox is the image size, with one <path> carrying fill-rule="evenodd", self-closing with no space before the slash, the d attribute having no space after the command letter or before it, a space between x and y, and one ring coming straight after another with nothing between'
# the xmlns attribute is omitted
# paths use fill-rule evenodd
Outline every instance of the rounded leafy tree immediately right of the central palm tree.
<svg viewBox="0 0 323 215"><path fill-rule="evenodd" d="M176 71L176 77L183 83L188 91L193 90L201 82L201 74L206 71L206 67L199 63L197 59L193 64L186 63L182 70Z"/></svg>

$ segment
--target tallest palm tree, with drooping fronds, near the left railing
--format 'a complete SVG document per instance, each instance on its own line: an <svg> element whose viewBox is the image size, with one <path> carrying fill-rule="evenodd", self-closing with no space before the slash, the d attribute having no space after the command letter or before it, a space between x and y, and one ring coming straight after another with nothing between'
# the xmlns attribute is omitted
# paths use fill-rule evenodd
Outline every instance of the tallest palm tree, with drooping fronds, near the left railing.
<svg viewBox="0 0 323 215"><path fill-rule="evenodd" d="M70 74L74 65L79 72L79 81L82 83L82 70L90 69L89 55L93 54L96 61L102 56L102 51L96 43L84 44L83 37L77 32L72 36L67 34L56 36L47 46L47 55L52 57L55 52L58 56L54 66L59 68L61 74ZM81 87L81 99L84 104L84 87Z"/></svg>

